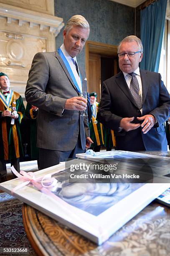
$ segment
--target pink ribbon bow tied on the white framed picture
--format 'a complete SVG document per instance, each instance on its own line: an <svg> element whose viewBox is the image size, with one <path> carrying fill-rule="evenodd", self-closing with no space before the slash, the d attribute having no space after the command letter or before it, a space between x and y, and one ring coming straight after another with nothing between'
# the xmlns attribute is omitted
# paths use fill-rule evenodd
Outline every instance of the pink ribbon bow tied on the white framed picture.
<svg viewBox="0 0 170 256"><path fill-rule="evenodd" d="M34 187L38 188L38 190L42 191L45 194L52 194L50 189L56 187L57 185L57 179L51 178L51 174L46 174L41 178L36 178L33 172L24 172L20 171L18 173L15 168L12 166L11 171L22 181L24 181L22 184L16 186L11 190L11 194L14 194L14 191L17 189L20 189L22 187L25 187L28 184L32 184ZM21 175L22 174L22 175Z"/></svg>

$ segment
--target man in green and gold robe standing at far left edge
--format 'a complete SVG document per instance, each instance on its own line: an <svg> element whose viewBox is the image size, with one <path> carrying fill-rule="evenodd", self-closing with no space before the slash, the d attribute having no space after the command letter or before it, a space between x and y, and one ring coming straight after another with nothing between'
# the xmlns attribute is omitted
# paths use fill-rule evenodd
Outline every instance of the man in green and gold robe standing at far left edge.
<svg viewBox="0 0 170 256"><path fill-rule="evenodd" d="M20 172L23 147L20 122L25 113L22 97L10 89L8 75L0 72L0 182L7 180L6 161Z"/></svg>

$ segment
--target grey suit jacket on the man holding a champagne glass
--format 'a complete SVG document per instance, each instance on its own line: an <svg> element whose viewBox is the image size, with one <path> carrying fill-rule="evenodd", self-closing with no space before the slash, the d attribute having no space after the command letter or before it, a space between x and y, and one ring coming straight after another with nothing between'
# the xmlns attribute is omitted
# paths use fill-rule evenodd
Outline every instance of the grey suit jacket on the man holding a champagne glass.
<svg viewBox="0 0 170 256"><path fill-rule="evenodd" d="M86 91L85 75L81 73L82 90ZM74 149L80 133L85 149L89 137L87 117L79 111L64 110L66 100L78 96L76 87L57 52L37 53L29 72L26 100L39 108L37 147L69 151Z"/></svg>

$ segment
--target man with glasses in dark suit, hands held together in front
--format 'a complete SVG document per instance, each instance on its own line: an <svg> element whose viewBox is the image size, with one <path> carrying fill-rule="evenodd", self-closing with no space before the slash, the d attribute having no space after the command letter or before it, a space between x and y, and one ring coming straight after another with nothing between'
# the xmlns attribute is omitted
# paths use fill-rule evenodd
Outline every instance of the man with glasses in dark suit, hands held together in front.
<svg viewBox="0 0 170 256"><path fill-rule="evenodd" d="M170 96L160 74L139 69L143 46L137 36L122 40L118 56L121 72L103 83L99 121L114 130L117 150L166 151Z"/></svg>

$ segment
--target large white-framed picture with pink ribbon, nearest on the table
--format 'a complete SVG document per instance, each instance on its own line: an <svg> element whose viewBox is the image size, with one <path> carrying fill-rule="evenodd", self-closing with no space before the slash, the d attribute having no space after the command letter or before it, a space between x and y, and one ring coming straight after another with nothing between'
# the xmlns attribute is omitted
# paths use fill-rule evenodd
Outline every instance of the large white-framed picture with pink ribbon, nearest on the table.
<svg viewBox="0 0 170 256"><path fill-rule="evenodd" d="M1 183L0 189L100 245L169 187L169 183L99 182L99 177L96 182L89 182L89 177L71 182L72 166L81 175L82 164L91 160L58 164L31 174L29 184L23 186L25 181L16 178ZM49 175L57 179L55 186L35 186Z"/></svg>

